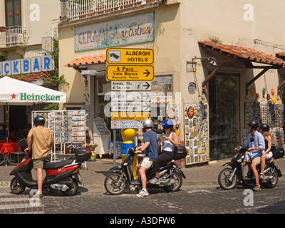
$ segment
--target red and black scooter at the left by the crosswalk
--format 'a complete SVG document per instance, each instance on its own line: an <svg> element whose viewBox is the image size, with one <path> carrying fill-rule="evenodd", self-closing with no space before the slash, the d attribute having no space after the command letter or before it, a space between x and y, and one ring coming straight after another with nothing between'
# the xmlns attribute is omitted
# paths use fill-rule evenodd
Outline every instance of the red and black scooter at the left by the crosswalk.
<svg viewBox="0 0 285 228"><path fill-rule="evenodd" d="M43 189L50 192L62 192L66 196L75 195L78 191L78 183L82 185L82 178L79 173L81 162L90 159L91 151L88 147L77 148L76 158L73 160L63 160L59 162L47 162L43 166L46 177L43 180ZM33 160L31 152L27 153L23 160L17 165L10 175L15 176L10 183L11 192L21 194L26 187L37 188L38 182L33 180L31 170Z"/></svg>

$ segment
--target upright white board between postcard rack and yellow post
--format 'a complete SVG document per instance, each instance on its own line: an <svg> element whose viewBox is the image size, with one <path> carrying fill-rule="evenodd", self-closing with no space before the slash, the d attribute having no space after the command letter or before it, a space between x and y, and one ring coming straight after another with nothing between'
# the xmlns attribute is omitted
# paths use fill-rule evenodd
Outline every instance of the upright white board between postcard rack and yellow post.
<svg viewBox="0 0 285 228"><path fill-rule="evenodd" d="M100 158L102 158L102 155L108 154L110 140L111 133L103 118L93 119L93 142L98 145L97 154Z"/></svg>

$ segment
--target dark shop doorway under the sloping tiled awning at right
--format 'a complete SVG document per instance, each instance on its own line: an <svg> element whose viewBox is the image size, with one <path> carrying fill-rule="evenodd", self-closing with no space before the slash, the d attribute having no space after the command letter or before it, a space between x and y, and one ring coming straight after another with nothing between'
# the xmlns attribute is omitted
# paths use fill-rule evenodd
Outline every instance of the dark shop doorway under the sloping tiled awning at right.
<svg viewBox="0 0 285 228"><path fill-rule="evenodd" d="M209 157L234 155L239 145L239 75L219 74L209 81Z"/></svg>

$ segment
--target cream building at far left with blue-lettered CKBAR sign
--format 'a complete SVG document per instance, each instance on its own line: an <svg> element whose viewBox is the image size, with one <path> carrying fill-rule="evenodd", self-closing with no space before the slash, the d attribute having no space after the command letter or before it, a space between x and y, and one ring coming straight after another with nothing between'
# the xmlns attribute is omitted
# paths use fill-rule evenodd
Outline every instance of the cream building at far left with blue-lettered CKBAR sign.
<svg viewBox="0 0 285 228"><path fill-rule="evenodd" d="M60 2L1 0L0 12L0 76L23 77L24 81L42 84L46 73L53 71L52 39L58 36ZM0 105L0 125L9 119L10 133L23 129L31 124L31 110L42 107L11 105L8 118L5 105Z"/></svg>

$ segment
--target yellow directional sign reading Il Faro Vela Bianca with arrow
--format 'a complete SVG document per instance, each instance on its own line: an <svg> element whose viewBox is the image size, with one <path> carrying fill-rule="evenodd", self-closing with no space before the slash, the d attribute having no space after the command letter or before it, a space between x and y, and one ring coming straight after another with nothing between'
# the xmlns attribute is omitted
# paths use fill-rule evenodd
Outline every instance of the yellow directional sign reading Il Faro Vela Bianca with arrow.
<svg viewBox="0 0 285 228"><path fill-rule="evenodd" d="M106 81L154 81L153 66L108 65Z"/></svg>

